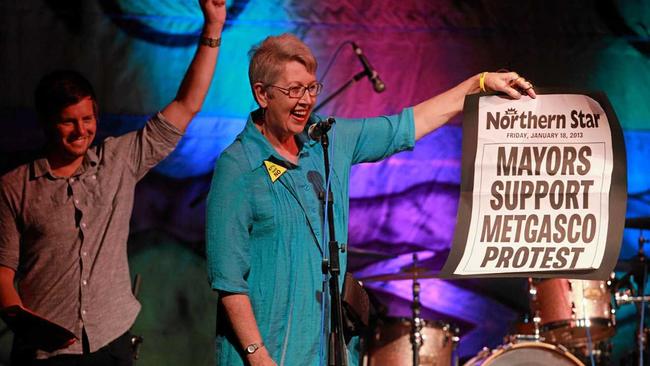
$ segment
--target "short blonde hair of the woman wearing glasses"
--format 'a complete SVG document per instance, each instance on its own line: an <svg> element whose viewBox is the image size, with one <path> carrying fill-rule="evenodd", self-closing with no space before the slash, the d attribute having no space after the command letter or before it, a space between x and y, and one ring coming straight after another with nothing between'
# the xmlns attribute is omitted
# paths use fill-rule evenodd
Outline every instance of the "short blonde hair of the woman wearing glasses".
<svg viewBox="0 0 650 366"><path fill-rule="evenodd" d="M248 54L251 59L248 66L251 88L255 83L275 83L284 70L284 64L289 61L300 62L311 74L316 74L318 68L309 47L290 33L266 37L260 44L253 46Z"/></svg>

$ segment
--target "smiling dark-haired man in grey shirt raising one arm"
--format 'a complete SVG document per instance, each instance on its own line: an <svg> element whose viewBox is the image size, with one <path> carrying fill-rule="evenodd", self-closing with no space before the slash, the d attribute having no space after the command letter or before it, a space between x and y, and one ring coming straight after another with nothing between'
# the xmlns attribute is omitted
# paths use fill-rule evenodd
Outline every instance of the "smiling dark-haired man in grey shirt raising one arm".
<svg viewBox="0 0 650 366"><path fill-rule="evenodd" d="M76 342L51 350L14 325L14 364L132 363L128 329L140 310L126 255L133 194L174 149L210 86L225 1L200 4L203 31L176 98L141 130L91 147L97 101L90 83L72 71L39 83L44 155L0 178L0 308L36 313Z"/></svg>

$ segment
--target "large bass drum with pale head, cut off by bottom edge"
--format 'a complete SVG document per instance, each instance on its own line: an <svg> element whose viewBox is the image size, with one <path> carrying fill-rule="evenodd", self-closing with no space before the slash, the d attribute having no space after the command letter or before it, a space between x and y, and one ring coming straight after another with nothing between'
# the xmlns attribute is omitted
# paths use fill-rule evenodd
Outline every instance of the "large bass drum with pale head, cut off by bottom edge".
<svg viewBox="0 0 650 366"><path fill-rule="evenodd" d="M542 342L507 344L494 351L481 351L465 366L584 366L561 346Z"/></svg>

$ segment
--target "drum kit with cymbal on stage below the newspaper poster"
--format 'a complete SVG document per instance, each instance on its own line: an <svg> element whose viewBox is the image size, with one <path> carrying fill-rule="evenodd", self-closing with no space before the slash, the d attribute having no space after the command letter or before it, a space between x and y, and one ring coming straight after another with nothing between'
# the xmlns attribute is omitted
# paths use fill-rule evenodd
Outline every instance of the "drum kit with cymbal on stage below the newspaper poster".
<svg viewBox="0 0 650 366"><path fill-rule="evenodd" d="M650 218L626 221L626 227L648 229ZM636 353L621 359L624 365L643 365L646 337L644 308L650 302L644 288L647 277L646 257L641 235L639 251L631 260L619 261L606 281L565 278L528 279L530 311L524 321L504 337L495 349L483 348L464 366L506 365L610 365L612 337L616 334L616 309L635 304L638 331ZM362 279L368 281L413 281L411 318L380 317L367 337L362 364L366 366L459 365L456 348L461 342L459 328L443 321L420 317L418 280L435 278L437 273L418 269L414 255L412 268L401 272ZM521 295L526 296L526 295ZM650 364L650 360L647 361Z"/></svg>

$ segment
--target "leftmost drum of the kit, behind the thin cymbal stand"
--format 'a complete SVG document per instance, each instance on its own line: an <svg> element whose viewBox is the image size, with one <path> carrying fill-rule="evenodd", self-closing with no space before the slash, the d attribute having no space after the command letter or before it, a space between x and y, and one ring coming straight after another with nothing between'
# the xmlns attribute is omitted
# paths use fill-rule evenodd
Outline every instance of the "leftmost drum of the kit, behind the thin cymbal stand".
<svg viewBox="0 0 650 366"><path fill-rule="evenodd" d="M420 365L451 365L453 350L458 342L458 331L445 322L423 320L422 323ZM368 366L413 365L411 320L388 318L379 324L370 339L367 357Z"/></svg>

